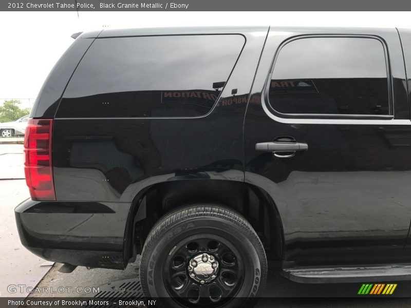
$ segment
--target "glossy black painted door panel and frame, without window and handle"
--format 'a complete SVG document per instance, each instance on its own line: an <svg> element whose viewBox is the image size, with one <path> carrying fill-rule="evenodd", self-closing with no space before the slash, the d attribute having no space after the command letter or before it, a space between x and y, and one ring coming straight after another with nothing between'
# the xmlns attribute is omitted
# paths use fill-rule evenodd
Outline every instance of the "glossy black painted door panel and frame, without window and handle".
<svg viewBox="0 0 411 308"><path fill-rule="evenodd" d="M302 124L291 119L281 123L269 118L261 89L278 46L290 36L323 34L307 29L278 35L272 29L254 82L255 103L249 104L246 114L245 180L267 190L276 203L284 229L285 266L409 260L402 249L411 216L407 187L411 126L398 33L395 29L329 32L372 33L387 42L395 120L405 119L406 125ZM293 158L255 151L257 142L277 136L305 142L308 151Z"/></svg>

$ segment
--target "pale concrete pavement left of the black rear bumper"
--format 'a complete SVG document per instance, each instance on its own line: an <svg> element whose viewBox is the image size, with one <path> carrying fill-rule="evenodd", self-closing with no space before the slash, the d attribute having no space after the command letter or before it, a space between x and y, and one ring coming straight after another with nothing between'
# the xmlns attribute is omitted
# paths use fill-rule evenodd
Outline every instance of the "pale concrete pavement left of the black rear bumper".
<svg viewBox="0 0 411 308"><path fill-rule="evenodd" d="M27 296L27 290L11 293L8 286L36 285L53 264L30 253L18 237L14 208L30 197L23 162L22 144L0 144L0 297Z"/></svg>

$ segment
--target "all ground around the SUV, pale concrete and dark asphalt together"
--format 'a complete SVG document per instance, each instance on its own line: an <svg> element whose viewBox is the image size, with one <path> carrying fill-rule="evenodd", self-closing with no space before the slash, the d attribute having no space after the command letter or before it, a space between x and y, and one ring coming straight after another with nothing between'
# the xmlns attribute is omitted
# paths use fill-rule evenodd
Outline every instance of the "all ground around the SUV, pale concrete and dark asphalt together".
<svg viewBox="0 0 411 308"><path fill-rule="evenodd" d="M23 146L0 144L0 179L21 179L23 170ZM0 266L1 297L26 296L27 293L9 293L4 288L9 284L25 283L58 290L61 293L32 293L30 297L80 297L89 294L86 287L104 287L125 279L138 279L139 258L128 264L124 271L114 269L87 269L77 267L70 274L58 272L61 264L50 266L44 260L29 253L18 240L14 207L28 198L25 180L0 180L0 214L3 224L0 226L2 254ZM43 266L42 266L43 265ZM35 273L35 275L33 275ZM43 277L44 276L44 277ZM364 281L366 282L366 281ZM384 283L384 281L381 281ZM389 296L358 296L361 283L338 284L301 284L292 282L279 273L278 264L269 263L267 286L257 307L409 307L411 306L411 281L399 281L396 291ZM79 289L80 287L80 289ZM62 289L60 289L62 290ZM79 291L80 290L80 291ZM351 298L350 298L351 297ZM352 298L354 297L354 298ZM396 298L402 297L402 298Z"/></svg>

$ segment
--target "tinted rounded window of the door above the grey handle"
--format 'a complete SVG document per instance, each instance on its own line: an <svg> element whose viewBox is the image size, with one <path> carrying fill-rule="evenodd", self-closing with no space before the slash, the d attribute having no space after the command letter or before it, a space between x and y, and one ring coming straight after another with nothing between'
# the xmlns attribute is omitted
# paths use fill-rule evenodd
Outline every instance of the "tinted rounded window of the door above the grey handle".
<svg viewBox="0 0 411 308"><path fill-rule="evenodd" d="M384 47L373 38L292 41L278 53L269 101L282 113L388 114Z"/></svg>

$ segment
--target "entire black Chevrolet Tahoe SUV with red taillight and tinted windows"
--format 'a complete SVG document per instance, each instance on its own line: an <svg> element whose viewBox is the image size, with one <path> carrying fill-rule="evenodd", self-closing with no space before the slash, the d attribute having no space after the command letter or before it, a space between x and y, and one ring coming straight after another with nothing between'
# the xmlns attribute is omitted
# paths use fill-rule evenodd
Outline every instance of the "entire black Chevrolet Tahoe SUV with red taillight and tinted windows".
<svg viewBox="0 0 411 308"><path fill-rule="evenodd" d="M299 282L410 278L411 31L76 36L26 130L31 252L141 254L166 307L252 305L267 260Z"/></svg>

